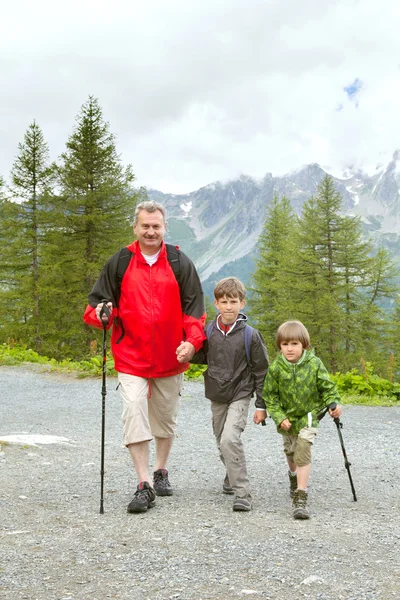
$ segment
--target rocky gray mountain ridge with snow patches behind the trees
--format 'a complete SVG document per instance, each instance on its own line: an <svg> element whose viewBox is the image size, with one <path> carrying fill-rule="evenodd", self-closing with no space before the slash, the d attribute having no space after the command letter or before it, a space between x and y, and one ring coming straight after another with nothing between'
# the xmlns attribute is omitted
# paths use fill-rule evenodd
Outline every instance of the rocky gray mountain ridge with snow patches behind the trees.
<svg viewBox="0 0 400 600"><path fill-rule="evenodd" d="M274 193L287 196L300 213L326 174L314 163L281 177L267 173L257 180L242 175L189 194L148 190L148 196L166 206L167 240L179 244L194 260L210 295L215 281L225 275L248 282L265 210ZM396 151L387 165L377 166L372 175L350 168L342 177L332 177L343 197L344 213L360 215L366 236L388 247L399 260L400 152Z"/></svg>

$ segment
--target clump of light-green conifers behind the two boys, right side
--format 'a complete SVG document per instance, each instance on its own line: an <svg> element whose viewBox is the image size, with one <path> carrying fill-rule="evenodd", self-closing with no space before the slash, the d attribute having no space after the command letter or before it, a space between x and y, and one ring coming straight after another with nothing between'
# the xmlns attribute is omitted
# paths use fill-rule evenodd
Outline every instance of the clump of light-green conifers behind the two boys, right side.
<svg viewBox="0 0 400 600"><path fill-rule="evenodd" d="M372 254L360 219L342 216L342 204L329 176L299 219L284 198L274 198L259 241L252 322L271 358L278 326L298 319L331 372L350 370L369 356L379 373L389 375L386 357L398 351L400 324L398 312L389 319L382 301L396 296L396 269L386 250Z"/></svg>

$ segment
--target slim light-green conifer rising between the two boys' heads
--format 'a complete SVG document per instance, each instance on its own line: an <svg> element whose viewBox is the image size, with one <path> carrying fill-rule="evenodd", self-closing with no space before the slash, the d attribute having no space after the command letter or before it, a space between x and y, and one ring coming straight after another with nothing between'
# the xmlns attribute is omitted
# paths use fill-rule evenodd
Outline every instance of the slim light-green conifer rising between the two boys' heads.
<svg viewBox="0 0 400 600"><path fill-rule="evenodd" d="M292 318L295 310L296 277L292 259L296 228L297 218L290 201L275 194L258 242L259 258L249 300L252 322L263 334L272 354L277 328L282 321Z"/></svg>

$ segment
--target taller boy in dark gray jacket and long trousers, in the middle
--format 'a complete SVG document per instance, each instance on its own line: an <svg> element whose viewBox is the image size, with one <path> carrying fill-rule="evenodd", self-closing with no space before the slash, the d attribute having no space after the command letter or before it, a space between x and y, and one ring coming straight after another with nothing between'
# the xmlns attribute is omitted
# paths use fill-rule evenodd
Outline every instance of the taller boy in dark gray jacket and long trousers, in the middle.
<svg viewBox="0 0 400 600"><path fill-rule="evenodd" d="M267 416L262 390L268 354L258 330L249 328L245 334L249 326L246 315L240 312L246 303L243 283L236 277L226 277L217 283L214 296L219 314L207 328L203 348L190 362L208 365L205 396L211 400L213 431L226 467L222 491L235 495L233 510L249 511L252 497L241 435L254 392L258 422ZM177 355L180 362L185 359L179 348Z"/></svg>

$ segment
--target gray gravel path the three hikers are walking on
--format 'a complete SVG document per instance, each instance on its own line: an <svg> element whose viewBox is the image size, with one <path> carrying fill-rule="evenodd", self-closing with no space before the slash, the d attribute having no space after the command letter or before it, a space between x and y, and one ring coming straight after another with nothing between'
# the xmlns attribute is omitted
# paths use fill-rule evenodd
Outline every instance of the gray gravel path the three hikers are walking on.
<svg viewBox="0 0 400 600"><path fill-rule="evenodd" d="M199 382L182 397L169 472L175 488L144 515L107 382L105 514L100 505L101 381L0 368L0 597L7 600L390 600L400 598L400 408L344 407L353 502L334 424L314 449L310 521L294 521L281 439L269 420L244 434L254 493L234 513ZM1 443L1 442L0 442ZM152 455L153 458L153 455Z"/></svg>

